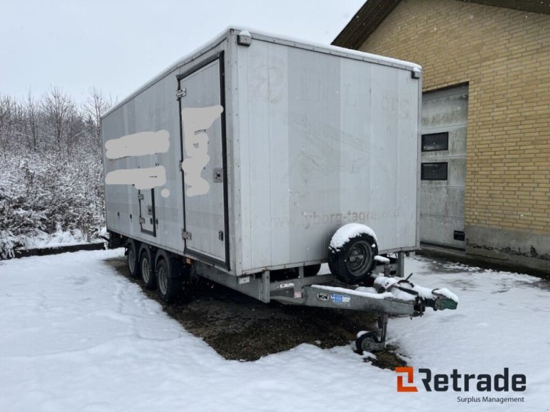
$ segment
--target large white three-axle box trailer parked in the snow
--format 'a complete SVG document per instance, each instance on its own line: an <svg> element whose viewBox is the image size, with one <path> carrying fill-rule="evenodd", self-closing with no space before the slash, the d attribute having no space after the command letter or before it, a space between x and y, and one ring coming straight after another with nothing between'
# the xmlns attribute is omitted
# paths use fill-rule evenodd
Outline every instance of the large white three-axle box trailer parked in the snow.
<svg viewBox="0 0 550 412"><path fill-rule="evenodd" d="M417 249L421 89L412 63L225 31L102 118L111 245L167 300L192 272L263 301L418 312L313 285L402 275ZM342 226L364 238L346 256ZM307 276L328 261L351 272Z"/></svg>

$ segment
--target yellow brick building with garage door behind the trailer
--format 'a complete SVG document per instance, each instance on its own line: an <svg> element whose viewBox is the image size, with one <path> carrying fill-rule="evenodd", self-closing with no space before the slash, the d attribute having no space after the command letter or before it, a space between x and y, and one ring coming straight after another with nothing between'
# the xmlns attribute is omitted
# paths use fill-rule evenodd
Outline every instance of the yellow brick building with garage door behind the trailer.
<svg viewBox="0 0 550 412"><path fill-rule="evenodd" d="M421 241L550 271L550 2L369 0L333 44L423 67Z"/></svg>

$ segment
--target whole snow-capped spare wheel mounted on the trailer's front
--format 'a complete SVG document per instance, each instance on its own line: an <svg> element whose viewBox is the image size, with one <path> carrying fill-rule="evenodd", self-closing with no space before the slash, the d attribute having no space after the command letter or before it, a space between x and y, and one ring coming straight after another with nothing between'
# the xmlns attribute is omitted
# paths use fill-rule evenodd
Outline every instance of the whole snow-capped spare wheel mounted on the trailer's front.
<svg viewBox="0 0 550 412"><path fill-rule="evenodd" d="M378 254L373 229L348 223L334 233L329 246L329 268L346 284L359 284L371 276Z"/></svg>

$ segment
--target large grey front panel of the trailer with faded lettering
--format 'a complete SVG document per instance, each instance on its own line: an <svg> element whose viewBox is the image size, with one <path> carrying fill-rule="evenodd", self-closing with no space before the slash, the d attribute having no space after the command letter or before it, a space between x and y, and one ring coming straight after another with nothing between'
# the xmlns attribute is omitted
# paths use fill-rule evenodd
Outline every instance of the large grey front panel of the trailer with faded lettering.
<svg viewBox="0 0 550 412"><path fill-rule="evenodd" d="M410 71L258 40L238 53L243 270L325 260L347 222L415 249Z"/></svg>

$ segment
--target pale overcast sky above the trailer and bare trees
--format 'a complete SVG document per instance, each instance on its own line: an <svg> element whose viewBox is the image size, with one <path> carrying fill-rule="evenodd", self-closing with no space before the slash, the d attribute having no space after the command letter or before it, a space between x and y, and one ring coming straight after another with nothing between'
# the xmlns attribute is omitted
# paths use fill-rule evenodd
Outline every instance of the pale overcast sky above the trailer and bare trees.
<svg viewBox="0 0 550 412"><path fill-rule="evenodd" d="M3 0L0 93L122 100L229 25L331 43L364 0Z"/></svg>

